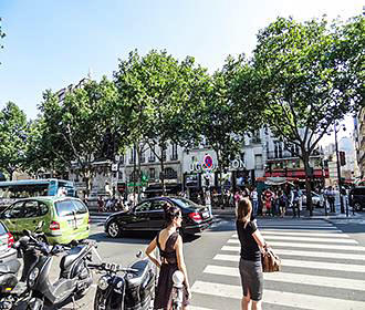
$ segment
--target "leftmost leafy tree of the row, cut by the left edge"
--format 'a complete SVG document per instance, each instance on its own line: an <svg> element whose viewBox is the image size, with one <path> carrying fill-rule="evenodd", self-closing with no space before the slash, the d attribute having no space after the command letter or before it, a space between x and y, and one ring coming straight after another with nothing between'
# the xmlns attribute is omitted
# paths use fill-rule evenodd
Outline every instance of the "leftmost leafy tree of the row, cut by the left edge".
<svg viewBox="0 0 365 310"><path fill-rule="evenodd" d="M24 164L27 137L29 135L27 115L12 102L0 112L0 168L12 179L15 170Z"/></svg>

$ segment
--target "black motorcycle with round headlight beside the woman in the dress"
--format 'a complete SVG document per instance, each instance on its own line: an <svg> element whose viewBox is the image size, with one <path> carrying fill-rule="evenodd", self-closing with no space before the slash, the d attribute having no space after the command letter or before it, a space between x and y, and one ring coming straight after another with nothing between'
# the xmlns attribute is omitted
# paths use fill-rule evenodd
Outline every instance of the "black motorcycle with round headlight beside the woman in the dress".
<svg viewBox="0 0 365 310"><path fill-rule="evenodd" d="M88 267L104 273L97 282L95 310L153 309L156 268L148 259L138 259L131 268L105 262L88 264Z"/></svg>

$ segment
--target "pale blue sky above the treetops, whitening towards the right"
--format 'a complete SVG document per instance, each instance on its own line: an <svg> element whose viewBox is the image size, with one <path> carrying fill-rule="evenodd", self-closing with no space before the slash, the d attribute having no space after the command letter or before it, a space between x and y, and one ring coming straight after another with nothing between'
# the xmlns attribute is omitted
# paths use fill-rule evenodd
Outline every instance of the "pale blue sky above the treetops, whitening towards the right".
<svg viewBox="0 0 365 310"><path fill-rule="evenodd" d="M278 16L347 19L359 0L0 0L0 108L17 103L30 118L46 89L92 72L112 76L118 58L138 49L192 55L215 71L228 54L250 54L255 34Z"/></svg>

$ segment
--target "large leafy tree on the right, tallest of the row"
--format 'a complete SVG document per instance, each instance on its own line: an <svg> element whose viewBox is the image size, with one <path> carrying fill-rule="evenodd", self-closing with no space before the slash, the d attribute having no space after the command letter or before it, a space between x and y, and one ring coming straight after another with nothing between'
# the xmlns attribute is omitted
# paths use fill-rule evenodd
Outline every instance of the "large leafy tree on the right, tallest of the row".
<svg viewBox="0 0 365 310"><path fill-rule="evenodd" d="M336 121L364 104L363 51L363 17L345 24L278 18L258 34L251 108L264 108L275 136L299 146L311 215L310 156Z"/></svg>

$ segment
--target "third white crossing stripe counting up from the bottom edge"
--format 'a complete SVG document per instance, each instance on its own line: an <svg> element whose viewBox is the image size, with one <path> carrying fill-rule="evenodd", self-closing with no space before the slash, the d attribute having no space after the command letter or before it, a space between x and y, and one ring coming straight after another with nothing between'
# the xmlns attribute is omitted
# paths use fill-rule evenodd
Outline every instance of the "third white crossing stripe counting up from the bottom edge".
<svg viewBox="0 0 365 310"><path fill-rule="evenodd" d="M240 260L240 256L218 254L213 257L213 259L238 262ZM350 272L365 272L365 266L363 265L348 265L348 264L323 262L323 261L312 261L312 260L296 260L296 259L281 259L281 265L286 267L312 268L312 269L350 271Z"/></svg>

